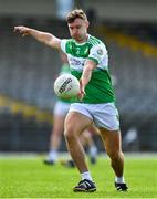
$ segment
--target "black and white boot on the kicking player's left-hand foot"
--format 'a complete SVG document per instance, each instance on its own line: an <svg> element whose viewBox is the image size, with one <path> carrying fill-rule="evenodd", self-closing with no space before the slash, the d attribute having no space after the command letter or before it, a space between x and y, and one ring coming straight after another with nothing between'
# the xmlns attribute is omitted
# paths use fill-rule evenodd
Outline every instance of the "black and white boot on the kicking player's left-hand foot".
<svg viewBox="0 0 157 199"><path fill-rule="evenodd" d="M78 182L76 187L73 188L75 192L94 192L96 191L96 186L93 181L83 179Z"/></svg>

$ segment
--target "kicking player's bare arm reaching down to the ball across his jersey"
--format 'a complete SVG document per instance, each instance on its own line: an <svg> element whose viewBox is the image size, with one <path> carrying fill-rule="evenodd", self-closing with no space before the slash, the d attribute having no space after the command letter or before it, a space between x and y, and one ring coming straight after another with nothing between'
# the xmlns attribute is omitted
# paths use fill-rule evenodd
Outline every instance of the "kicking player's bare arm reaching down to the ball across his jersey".
<svg viewBox="0 0 157 199"><path fill-rule="evenodd" d="M85 94L85 86L88 84L91 76L92 76L92 71L97 66L96 62L92 60L87 60L84 65L84 70L80 80L81 88L78 93L80 100L83 98Z"/></svg>

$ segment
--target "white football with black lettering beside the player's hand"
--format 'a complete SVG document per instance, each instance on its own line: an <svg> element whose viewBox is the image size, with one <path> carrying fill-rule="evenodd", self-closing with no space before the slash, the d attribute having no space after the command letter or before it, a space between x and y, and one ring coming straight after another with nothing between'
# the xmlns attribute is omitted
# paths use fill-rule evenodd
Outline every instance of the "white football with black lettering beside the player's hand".
<svg viewBox="0 0 157 199"><path fill-rule="evenodd" d="M54 82L54 92L61 98L72 98L77 96L80 82L72 74L62 74Z"/></svg>

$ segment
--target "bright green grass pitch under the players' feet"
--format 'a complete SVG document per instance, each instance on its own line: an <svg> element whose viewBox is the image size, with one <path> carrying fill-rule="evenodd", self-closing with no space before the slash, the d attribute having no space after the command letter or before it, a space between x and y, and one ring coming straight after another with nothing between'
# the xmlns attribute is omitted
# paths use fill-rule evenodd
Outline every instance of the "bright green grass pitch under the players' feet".
<svg viewBox="0 0 157 199"><path fill-rule="evenodd" d="M98 158L90 170L96 182L93 193L73 192L80 180L75 168L64 168L60 164L45 166L41 157L0 158L0 198L156 198L157 158L125 159L125 178L129 191L117 192L114 174L108 158Z"/></svg>

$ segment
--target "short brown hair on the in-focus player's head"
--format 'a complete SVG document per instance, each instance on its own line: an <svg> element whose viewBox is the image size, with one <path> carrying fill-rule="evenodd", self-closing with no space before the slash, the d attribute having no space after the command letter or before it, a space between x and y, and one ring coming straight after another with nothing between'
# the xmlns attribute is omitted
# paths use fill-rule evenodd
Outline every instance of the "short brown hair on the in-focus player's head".
<svg viewBox="0 0 157 199"><path fill-rule="evenodd" d="M66 15L66 21L67 21L67 23L72 23L77 18L80 18L80 19L82 19L84 21L87 20L87 17L86 17L85 12L82 9L75 9L75 10L72 10Z"/></svg>

